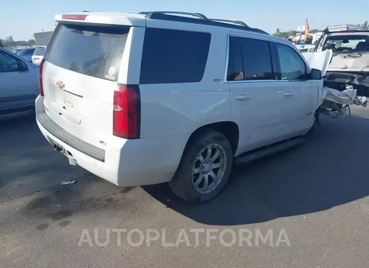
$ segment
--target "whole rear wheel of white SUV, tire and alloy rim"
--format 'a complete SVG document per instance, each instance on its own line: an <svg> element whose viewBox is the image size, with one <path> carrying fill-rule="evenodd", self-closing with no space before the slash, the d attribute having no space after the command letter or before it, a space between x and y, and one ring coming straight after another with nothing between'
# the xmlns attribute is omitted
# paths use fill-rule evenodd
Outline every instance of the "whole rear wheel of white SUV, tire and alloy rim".
<svg viewBox="0 0 369 268"><path fill-rule="evenodd" d="M188 202L206 202L224 188L232 162L228 139L218 131L207 130L187 147L169 186Z"/></svg>

